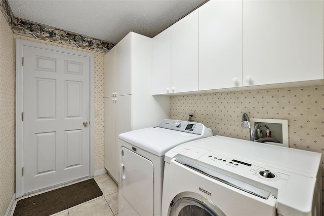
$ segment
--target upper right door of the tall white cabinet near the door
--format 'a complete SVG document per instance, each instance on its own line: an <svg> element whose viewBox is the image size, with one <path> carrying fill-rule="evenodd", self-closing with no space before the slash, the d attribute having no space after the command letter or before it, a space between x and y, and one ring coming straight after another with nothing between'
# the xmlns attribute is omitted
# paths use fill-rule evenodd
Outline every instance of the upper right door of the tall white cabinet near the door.
<svg viewBox="0 0 324 216"><path fill-rule="evenodd" d="M116 96L131 94L131 40L132 32L115 46Z"/></svg>

